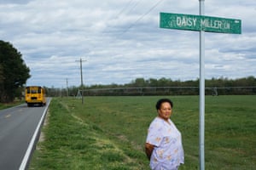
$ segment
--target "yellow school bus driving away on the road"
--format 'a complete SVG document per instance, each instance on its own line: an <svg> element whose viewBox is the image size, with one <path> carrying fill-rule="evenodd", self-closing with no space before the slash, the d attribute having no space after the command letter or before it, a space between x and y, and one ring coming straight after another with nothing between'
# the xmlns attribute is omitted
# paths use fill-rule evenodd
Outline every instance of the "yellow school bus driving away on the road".
<svg viewBox="0 0 256 170"><path fill-rule="evenodd" d="M40 86L27 86L25 89L27 106L46 105L45 90Z"/></svg>

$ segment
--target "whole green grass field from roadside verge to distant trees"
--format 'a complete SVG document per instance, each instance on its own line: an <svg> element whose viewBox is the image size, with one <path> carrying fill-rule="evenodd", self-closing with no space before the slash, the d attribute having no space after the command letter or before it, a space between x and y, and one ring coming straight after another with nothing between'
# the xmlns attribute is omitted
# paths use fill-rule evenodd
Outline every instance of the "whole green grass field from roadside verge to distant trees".
<svg viewBox="0 0 256 170"><path fill-rule="evenodd" d="M168 96L167 96L168 97ZM199 97L172 96L172 121L183 134L185 164L199 167ZM144 154L154 97L52 99L44 138L30 169L147 170ZM256 96L206 96L205 164L208 170L256 169Z"/></svg>

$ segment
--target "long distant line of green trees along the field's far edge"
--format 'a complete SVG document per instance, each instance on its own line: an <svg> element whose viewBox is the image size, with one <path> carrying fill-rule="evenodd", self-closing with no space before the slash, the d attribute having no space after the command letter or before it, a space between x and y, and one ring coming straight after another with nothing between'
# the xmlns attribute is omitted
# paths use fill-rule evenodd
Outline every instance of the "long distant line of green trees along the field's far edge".
<svg viewBox="0 0 256 170"><path fill-rule="evenodd" d="M256 78L243 77L229 79L212 78L205 81L206 95L253 95L256 94ZM199 79L193 81L172 81L160 79L137 78L126 84L91 85L85 87L46 88L49 96L96 96L96 95L198 95Z"/></svg>

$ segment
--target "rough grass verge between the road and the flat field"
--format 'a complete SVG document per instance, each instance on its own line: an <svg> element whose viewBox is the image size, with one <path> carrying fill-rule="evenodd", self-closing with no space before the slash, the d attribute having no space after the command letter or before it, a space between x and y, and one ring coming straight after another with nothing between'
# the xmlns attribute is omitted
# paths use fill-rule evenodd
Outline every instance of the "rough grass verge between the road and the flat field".
<svg viewBox="0 0 256 170"><path fill-rule="evenodd" d="M30 169L147 169L141 150L80 117L84 107L77 99L52 100Z"/></svg>

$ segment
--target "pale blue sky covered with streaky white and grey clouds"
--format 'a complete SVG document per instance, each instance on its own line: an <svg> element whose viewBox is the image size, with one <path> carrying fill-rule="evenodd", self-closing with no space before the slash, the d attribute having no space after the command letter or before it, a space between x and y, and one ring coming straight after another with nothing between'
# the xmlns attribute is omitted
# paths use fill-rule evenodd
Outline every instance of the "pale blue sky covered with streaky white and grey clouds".
<svg viewBox="0 0 256 170"><path fill-rule="evenodd" d="M160 12L199 14L198 0L0 0L0 39L20 51L27 85L199 78L199 32L160 28ZM205 33L205 77L256 77L256 1L205 0L205 15L241 34Z"/></svg>

